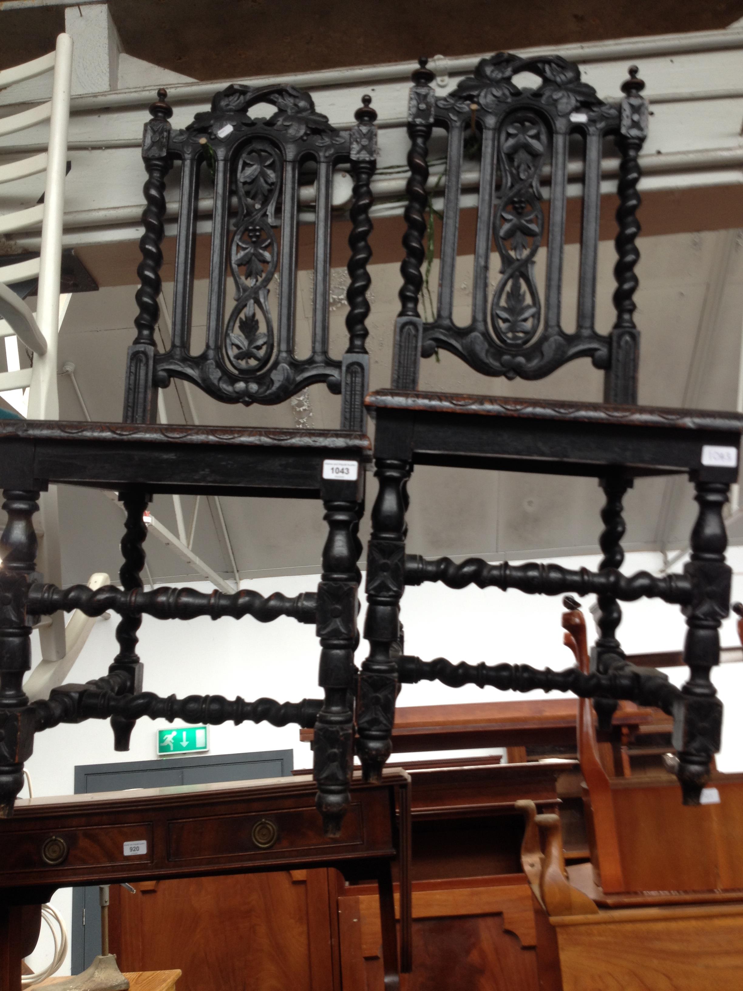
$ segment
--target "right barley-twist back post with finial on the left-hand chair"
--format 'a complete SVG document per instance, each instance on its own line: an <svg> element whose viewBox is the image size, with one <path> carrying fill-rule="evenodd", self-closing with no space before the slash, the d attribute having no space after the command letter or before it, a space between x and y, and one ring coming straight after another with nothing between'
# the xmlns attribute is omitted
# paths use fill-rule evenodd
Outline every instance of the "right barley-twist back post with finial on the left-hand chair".
<svg viewBox="0 0 743 991"><path fill-rule="evenodd" d="M367 416L364 396L369 391L369 353L367 352L367 318L370 313L367 293L371 285L369 263L371 247L369 239L373 225L369 211L373 203L371 176L376 169L376 111L371 107L371 96L362 97L362 106L356 111L357 124L351 131L351 167L354 172L354 199L351 205L351 233L348 263L350 276L346 298L349 312L346 329L349 346L343 356L342 383L343 406L341 426L346 430L363 431Z"/></svg>

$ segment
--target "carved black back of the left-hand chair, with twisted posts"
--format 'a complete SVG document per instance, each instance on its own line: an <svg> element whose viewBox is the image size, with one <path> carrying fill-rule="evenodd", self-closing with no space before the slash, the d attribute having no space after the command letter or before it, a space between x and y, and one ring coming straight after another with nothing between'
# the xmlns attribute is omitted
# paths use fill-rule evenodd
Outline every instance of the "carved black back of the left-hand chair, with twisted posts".
<svg viewBox="0 0 743 991"><path fill-rule="evenodd" d="M172 378L202 388L222 402L275 404L307 385L325 383L342 395L341 426L364 429L363 400L369 379L365 346L371 258L370 179L375 165L376 114L371 98L357 111L350 132L337 131L315 110L309 93L292 86L230 85L217 93L211 110L195 115L183 130L171 128L166 92L150 108L142 155L148 172L143 213L142 285L137 293L137 338L129 349L124 420L151 422L157 389ZM275 108L252 117L258 104ZM160 243L163 237L165 175L180 161L171 341L161 353L159 319ZM294 348L300 168L316 167L314 292L309 357ZM191 349L196 222L202 166L213 175L213 218L206 314L206 343ZM354 222L348 269L348 347L342 358L329 353L330 235L333 172L351 164L355 176ZM237 217L231 204L237 201ZM229 273L229 275L228 275ZM273 276L278 273L276 287ZM226 305L227 279L234 289ZM275 323L269 293L277 292Z"/></svg>

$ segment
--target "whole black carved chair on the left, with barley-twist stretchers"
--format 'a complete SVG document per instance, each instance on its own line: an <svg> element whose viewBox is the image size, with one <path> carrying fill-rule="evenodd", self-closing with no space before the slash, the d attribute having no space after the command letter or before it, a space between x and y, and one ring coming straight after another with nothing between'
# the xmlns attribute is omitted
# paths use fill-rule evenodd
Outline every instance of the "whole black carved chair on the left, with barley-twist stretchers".
<svg viewBox="0 0 743 991"><path fill-rule="evenodd" d="M290 86L232 85L216 94L210 111L197 114L184 130L173 130L166 95L159 90L144 129L147 205L140 242L137 337L129 350L124 422L12 422L0 433L0 486L8 513L0 538L0 815L12 811L34 734L59 722L110 716L116 749L126 750L142 716L208 723L265 719L273 725L315 725L317 806L326 833L337 835L349 801L353 763L361 552L357 530L364 507L365 464L371 460L363 400L369 369L365 321L376 114L371 98L365 96L356 126L341 133L317 113L306 92ZM275 112L267 119L254 118L251 109L258 104L269 104ZM159 353L156 326L165 176L176 161L180 199L172 343ZM194 353L190 331L196 215L199 173L205 161L213 169L214 208L206 344ZM299 169L308 161L316 167L312 347L309 357L297 358L297 203ZM334 359L328 341L331 190L334 167L348 163L355 178L348 347L342 358ZM233 198L236 217L231 211ZM226 313L228 271L235 302ZM268 283L276 271L280 284L274 330ZM173 378L196 385L217 400L245 405L279 403L307 385L324 383L341 395L341 429L159 425L155 423L158 390ZM43 584L35 572L33 516L40 491L50 484L120 493L127 511L122 589L62 590ZM293 599L279 594L264 599L245 591L235 595L190 589L145 592L140 579L147 534L143 512L156 493L322 499L329 536L317 591ZM91 616L108 609L120 614L119 653L106 677L62 686L48 702L29 705L23 679L30 667L34 617L76 607ZM325 699L248 703L221 696L163 699L143 692L143 665L137 654L143 613L160 619L251 615L262 622L291 616L314 623L321 644L319 681Z"/></svg>

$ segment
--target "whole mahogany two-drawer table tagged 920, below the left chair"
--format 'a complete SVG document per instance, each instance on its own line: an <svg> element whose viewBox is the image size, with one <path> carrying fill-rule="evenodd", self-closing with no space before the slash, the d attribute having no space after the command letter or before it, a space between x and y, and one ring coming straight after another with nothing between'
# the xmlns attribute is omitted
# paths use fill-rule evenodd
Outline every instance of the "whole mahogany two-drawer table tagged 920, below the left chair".
<svg viewBox="0 0 743 991"><path fill-rule="evenodd" d="M19 991L22 957L38 936L39 922L29 935L31 907L49 901L56 888L329 867L347 880L375 882L385 987L397 987L390 865L399 860L404 969L409 782L398 768L386 769L378 785L355 774L337 837L323 834L309 775L18 802L13 818L0 821L2 991Z"/></svg>

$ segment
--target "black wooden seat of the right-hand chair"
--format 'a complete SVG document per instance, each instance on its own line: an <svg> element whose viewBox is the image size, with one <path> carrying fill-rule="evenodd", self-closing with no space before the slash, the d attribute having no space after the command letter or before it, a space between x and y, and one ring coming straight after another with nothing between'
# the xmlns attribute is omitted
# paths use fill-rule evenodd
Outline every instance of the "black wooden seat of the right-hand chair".
<svg viewBox="0 0 743 991"><path fill-rule="evenodd" d="M635 477L699 470L735 481L743 431L739 413L559 399L379 389L366 405L376 457L409 450L416 464L561 475L622 466Z"/></svg>

